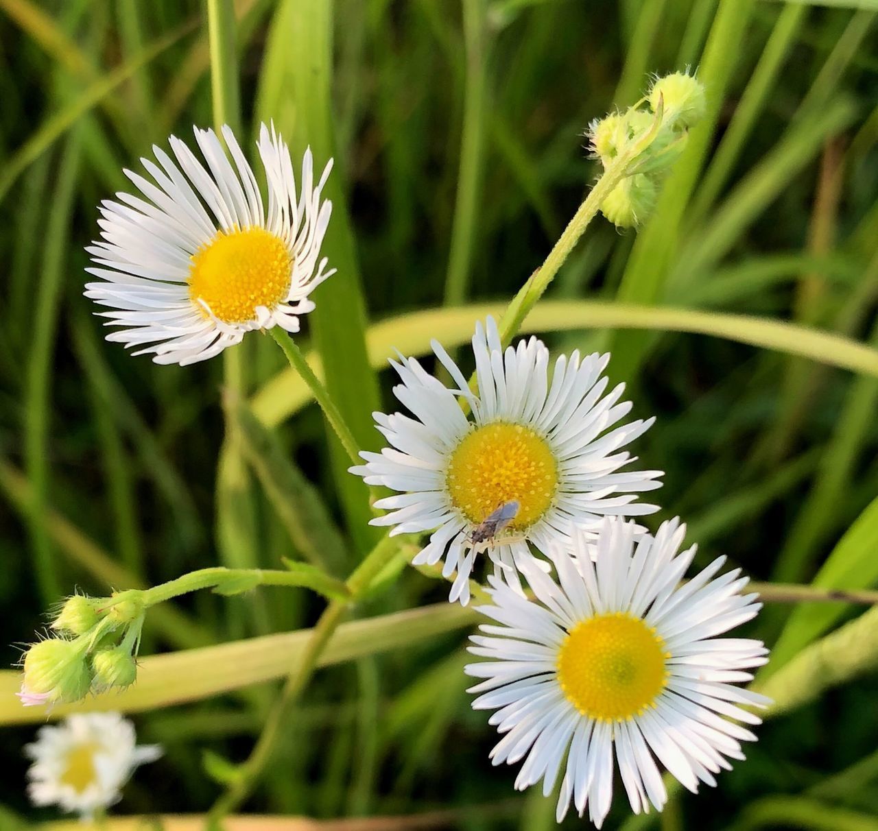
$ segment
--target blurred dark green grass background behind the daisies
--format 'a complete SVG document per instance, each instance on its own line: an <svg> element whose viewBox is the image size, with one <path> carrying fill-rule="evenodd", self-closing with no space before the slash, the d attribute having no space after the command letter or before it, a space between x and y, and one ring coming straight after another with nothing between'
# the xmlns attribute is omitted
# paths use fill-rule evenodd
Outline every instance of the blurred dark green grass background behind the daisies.
<svg viewBox="0 0 878 831"><path fill-rule="evenodd" d="M650 72L698 67L708 118L651 221L618 233L595 220L547 297L742 313L878 347L872 0L236 6L229 62L241 106L239 116L227 98L226 118L240 118L251 149L259 119L273 118L295 154L310 144L319 162L335 155L325 253L339 274L301 342L318 351L363 447L379 445L371 410L392 406L392 377L363 355L365 322L511 297L598 174L587 123L634 103ZM248 337L225 372L223 360L155 367L105 344L82 297L83 245L99 200L127 188L122 168L171 132L213 123L204 9L0 0L0 43L3 663L18 656L4 644L30 641L74 586L103 594L134 577L277 567L282 556L346 574L375 541L366 493L316 408L286 418L289 386L265 386L284 368L270 339ZM443 320L466 333L475 313ZM732 329L543 334L555 350L611 349L609 374L629 383L635 415L659 417L636 448L644 466L666 470L664 510L650 521L680 514L700 562L722 553L754 579L878 583L878 380L738 342L749 340L745 322L739 337ZM431 334L419 333L421 350ZM245 462L234 418L231 437L224 425L224 383L281 414ZM297 534L297 511L320 517L319 544ZM406 570L356 611L446 591ZM151 614L143 654L310 626L321 603L269 589L178 608L184 621ZM771 672L858 612L772 605L748 634L779 645ZM446 827L552 827L552 800L516 794L514 770L490 766L493 731L464 693L464 635L322 670L248 809L454 808ZM716 791L674 799L660 827L878 829L875 681L855 677L766 724L746 763ZM140 771L119 810L204 811L219 785L203 752L246 756L272 689L138 716L142 740L161 741L166 756ZM0 827L54 816L26 803L21 748L32 735L0 728ZM659 825L624 824L621 788L615 806L605 827Z"/></svg>

